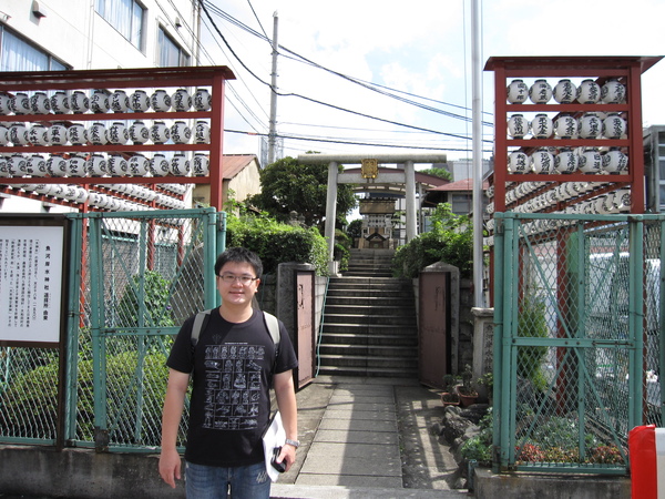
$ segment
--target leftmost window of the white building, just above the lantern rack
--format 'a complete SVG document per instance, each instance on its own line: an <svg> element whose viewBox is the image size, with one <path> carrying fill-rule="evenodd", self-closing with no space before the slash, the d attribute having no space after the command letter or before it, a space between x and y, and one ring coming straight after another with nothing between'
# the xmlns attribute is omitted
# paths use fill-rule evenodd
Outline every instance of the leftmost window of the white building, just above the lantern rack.
<svg viewBox="0 0 665 499"><path fill-rule="evenodd" d="M0 27L0 71L59 71L69 69L29 40Z"/></svg>

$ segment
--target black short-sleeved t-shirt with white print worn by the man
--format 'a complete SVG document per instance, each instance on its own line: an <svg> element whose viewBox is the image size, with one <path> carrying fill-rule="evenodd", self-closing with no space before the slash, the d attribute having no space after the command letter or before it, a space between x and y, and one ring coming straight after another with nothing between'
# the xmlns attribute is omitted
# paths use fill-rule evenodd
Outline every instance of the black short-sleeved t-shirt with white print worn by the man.
<svg viewBox="0 0 665 499"><path fill-rule="evenodd" d="M247 466L264 460L262 435L270 416L272 374L297 367L286 328L279 323L278 355L263 313L234 324L211 313L192 347L194 317L185 320L167 366L193 371L185 459L205 466ZM274 368L273 368L274 365Z"/></svg>

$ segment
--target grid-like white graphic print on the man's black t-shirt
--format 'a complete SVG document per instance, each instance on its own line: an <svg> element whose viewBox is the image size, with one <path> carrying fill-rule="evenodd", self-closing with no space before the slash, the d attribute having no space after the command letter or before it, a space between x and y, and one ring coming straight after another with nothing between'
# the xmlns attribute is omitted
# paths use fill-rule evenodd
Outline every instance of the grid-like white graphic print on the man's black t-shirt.
<svg viewBox="0 0 665 499"><path fill-rule="evenodd" d="M265 347L260 345L206 346L204 428L247 430L258 426L264 358Z"/></svg>

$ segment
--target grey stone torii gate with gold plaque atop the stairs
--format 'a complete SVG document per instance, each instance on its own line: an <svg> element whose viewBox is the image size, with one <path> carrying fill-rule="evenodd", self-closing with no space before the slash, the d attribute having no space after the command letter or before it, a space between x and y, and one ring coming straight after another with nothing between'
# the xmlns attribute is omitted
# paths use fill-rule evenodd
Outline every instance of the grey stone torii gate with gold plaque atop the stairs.
<svg viewBox="0 0 665 499"><path fill-rule="evenodd" d="M337 184L357 184L358 191L377 191L391 184L402 184L406 196L407 242L416 237L416 167L417 163L446 163L446 154L300 154L298 162L328 165L328 195L326 197L325 237L328 241L329 272L335 273L335 218L337 216ZM339 173L339 164L361 164L361 172ZM378 163L403 164L405 170L385 173Z"/></svg>

